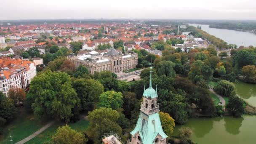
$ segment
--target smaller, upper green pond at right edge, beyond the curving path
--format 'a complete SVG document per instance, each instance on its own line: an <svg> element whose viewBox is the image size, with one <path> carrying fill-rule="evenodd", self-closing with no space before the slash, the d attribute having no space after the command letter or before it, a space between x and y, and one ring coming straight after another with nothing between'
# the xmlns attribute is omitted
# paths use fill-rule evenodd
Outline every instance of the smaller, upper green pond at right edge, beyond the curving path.
<svg viewBox="0 0 256 144"><path fill-rule="evenodd" d="M237 96L256 107L256 84L243 83L240 80L236 80L234 84Z"/></svg>

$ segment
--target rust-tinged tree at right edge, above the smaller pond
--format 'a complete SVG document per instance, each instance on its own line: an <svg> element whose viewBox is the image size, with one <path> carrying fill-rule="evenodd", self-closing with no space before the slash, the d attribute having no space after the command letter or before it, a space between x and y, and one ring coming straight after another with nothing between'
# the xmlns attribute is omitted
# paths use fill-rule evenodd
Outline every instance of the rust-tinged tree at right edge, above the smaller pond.
<svg viewBox="0 0 256 144"><path fill-rule="evenodd" d="M247 65L242 68L243 80L247 83L256 83L256 67Z"/></svg>

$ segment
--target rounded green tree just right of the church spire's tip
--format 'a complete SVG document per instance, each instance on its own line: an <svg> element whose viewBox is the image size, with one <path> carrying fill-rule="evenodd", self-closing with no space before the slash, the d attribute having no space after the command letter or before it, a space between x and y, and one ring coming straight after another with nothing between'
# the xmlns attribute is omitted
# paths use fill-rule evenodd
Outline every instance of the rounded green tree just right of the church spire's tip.
<svg viewBox="0 0 256 144"><path fill-rule="evenodd" d="M155 69L157 71L157 75L166 75L169 77L175 77L175 71L173 70L175 64L172 61L161 61L157 63Z"/></svg>

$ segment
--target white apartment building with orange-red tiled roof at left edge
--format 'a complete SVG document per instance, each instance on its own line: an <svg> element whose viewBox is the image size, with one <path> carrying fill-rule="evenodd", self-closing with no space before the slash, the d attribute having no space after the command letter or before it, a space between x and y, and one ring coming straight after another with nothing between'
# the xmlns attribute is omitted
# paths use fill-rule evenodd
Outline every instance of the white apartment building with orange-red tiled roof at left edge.
<svg viewBox="0 0 256 144"><path fill-rule="evenodd" d="M27 88L36 75L35 63L21 59L3 59L0 73L0 91L8 96L10 88Z"/></svg>

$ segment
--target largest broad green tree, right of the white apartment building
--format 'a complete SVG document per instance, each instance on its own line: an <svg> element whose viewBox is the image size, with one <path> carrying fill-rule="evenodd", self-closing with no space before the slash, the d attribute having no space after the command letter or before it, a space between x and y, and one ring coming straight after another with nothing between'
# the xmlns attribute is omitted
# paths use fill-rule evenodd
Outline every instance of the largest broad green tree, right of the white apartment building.
<svg viewBox="0 0 256 144"><path fill-rule="evenodd" d="M38 117L51 116L68 122L74 116L72 109L79 109L80 99L71 86L70 77L63 72L45 71L33 78L29 93L33 94L32 109Z"/></svg>

